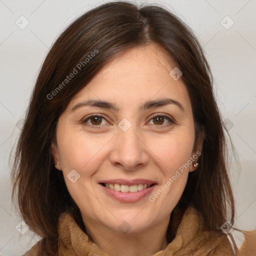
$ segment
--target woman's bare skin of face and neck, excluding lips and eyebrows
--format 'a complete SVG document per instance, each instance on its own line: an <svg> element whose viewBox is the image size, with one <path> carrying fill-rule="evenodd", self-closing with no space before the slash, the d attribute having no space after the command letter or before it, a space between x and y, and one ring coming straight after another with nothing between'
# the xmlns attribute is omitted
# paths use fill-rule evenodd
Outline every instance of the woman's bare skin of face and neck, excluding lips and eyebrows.
<svg viewBox="0 0 256 256"><path fill-rule="evenodd" d="M78 205L86 232L111 256L151 255L167 246L165 238L170 213L177 204L187 181L191 164L153 202L148 196L137 202L120 202L108 196L98 184L102 179L144 178L157 182L153 195L175 171L200 151L194 147L194 122L187 89L181 79L174 80L170 70L175 65L158 45L150 44L123 52L108 62L100 72L69 102L60 115L56 144L52 155L63 172L67 189ZM172 98L176 104L139 110L147 100ZM100 107L71 108L86 99L107 100L118 111ZM97 123L89 114L103 116ZM160 124L152 114L167 115ZM127 131L118 127L126 118ZM96 126L96 127L95 127ZM75 169L80 177L72 183L67 178ZM130 230L118 226L126 221Z"/></svg>

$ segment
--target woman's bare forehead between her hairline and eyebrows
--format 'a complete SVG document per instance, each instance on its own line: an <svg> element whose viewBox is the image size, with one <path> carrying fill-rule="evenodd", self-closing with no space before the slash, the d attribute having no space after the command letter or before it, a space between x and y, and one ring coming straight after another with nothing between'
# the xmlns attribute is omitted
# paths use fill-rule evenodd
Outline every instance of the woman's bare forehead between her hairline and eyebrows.
<svg viewBox="0 0 256 256"><path fill-rule="evenodd" d="M106 63L70 103L104 99L121 107L168 96L189 104L181 79L169 75L174 67L167 51L156 44L128 49Z"/></svg>

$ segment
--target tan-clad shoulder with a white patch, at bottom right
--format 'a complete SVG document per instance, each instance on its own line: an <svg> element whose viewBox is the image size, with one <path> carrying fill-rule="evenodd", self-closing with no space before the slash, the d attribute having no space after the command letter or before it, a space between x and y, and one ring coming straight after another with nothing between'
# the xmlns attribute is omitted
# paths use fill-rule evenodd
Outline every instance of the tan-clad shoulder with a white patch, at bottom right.
<svg viewBox="0 0 256 256"><path fill-rule="evenodd" d="M224 236L225 239L219 244L214 255L256 255L256 229L249 231L233 229Z"/></svg>

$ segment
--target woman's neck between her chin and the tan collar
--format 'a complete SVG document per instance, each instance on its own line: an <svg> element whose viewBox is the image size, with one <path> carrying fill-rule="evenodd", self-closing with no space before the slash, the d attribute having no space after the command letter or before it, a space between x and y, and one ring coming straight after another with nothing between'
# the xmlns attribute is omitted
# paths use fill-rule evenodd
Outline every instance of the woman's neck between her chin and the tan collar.
<svg viewBox="0 0 256 256"><path fill-rule="evenodd" d="M122 233L97 225L84 223L92 241L108 256L148 256L163 250L167 246L166 230L169 217L157 225L140 232ZM96 225L95 225L96 224Z"/></svg>

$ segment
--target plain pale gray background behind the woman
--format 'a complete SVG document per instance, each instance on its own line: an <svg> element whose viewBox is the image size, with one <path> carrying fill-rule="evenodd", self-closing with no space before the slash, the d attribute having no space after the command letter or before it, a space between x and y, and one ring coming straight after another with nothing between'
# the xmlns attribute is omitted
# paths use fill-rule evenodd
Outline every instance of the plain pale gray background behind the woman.
<svg viewBox="0 0 256 256"><path fill-rule="evenodd" d="M81 13L103 2L0 0L0 255L20 255L38 240L29 230L19 232L21 227L24 232L26 226L20 223L11 203L8 157L19 135L20 119L40 65L60 31ZM235 223L244 230L256 228L256 1L154 2L180 16L203 45L215 78L218 104L241 166L239 170L233 163L230 170ZM20 18L22 15L25 18ZM234 24L228 28L232 20ZM29 24L22 27L25 22Z"/></svg>

